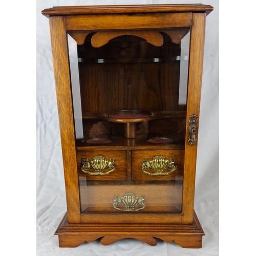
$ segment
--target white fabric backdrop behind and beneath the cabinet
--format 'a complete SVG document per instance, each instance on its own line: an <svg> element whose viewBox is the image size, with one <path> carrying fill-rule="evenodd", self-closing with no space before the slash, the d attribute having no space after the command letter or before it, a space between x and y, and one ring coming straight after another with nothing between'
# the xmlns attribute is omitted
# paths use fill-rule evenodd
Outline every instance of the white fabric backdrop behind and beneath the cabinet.
<svg viewBox="0 0 256 256"><path fill-rule="evenodd" d="M41 11L53 6L202 3L213 6L206 20L195 210L204 229L203 248L183 249L159 240L150 246L124 239L59 248L54 232L66 212L66 196L52 64L49 20ZM219 2L150 0L37 1L37 255L219 255Z"/></svg>

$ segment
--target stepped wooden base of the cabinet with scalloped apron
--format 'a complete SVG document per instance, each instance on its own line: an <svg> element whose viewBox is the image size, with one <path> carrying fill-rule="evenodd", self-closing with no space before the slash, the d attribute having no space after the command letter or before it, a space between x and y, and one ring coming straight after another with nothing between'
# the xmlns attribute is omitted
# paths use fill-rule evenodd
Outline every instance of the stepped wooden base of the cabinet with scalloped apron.
<svg viewBox="0 0 256 256"><path fill-rule="evenodd" d="M204 231L194 212L192 224L69 224L67 214L57 228L59 247L76 247L101 238L109 245L124 238L134 238L149 245L157 245L155 238L175 242L183 248L201 248Z"/></svg>

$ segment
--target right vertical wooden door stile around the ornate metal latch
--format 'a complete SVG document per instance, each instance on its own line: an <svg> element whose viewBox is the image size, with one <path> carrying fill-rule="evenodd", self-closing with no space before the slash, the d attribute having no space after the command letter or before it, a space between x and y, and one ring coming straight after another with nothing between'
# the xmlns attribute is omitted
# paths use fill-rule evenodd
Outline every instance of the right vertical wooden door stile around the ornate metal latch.
<svg viewBox="0 0 256 256"><path fill-rule="evenodd" d="M195 177L196 177L196 160L197 160L197 142L196 145L187 144L188 120L190 115L197 115L199 119L201 83L203 71L203 54L204 54L204 35L205 35L205 13L193 13L193 22L191 28L190 44L190 62L188 77L188 95L187 95L187 123L186 123L186 144L185 144L185 161L184 161L184 184L182 200L182 223L193 222L194 212L194 194L195 194ZM198 122L196 138L198 138Z"/></svg>

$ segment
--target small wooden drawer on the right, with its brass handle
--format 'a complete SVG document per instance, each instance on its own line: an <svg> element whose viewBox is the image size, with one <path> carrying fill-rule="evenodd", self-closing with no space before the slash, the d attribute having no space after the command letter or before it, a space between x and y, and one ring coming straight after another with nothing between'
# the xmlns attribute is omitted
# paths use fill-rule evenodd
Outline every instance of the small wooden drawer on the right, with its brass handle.
<svg viewBox="0 0 256 256"><path fill-rule="evenodd" d="M132 151L133 181L182 181L184 150Z"/></svg>

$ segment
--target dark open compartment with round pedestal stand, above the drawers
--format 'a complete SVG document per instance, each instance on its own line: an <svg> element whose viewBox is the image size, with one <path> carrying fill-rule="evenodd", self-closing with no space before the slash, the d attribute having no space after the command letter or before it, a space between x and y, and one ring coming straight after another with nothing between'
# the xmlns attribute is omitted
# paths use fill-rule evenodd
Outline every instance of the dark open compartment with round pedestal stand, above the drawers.
<svg viewBox="0 0 256 256"><path fill-rule="evenodd" d="M190 33L159 34L162 46L121 35L94 47L88 32L77 52L68 37L77 145L184 145Z"/></svg>

